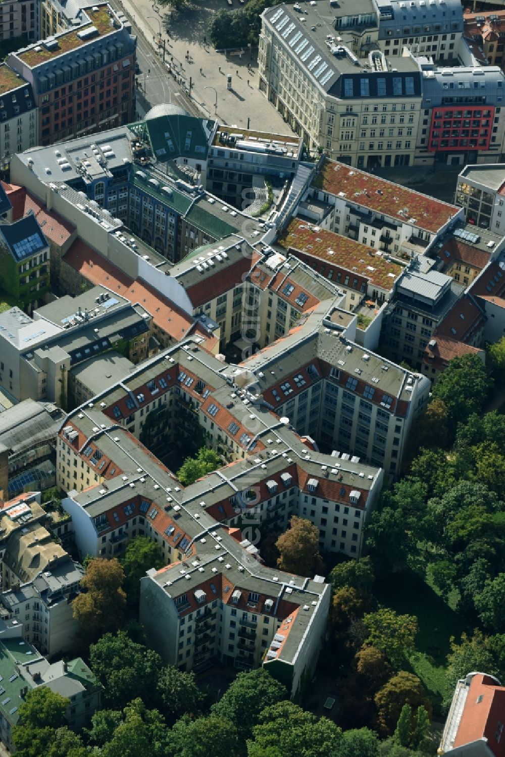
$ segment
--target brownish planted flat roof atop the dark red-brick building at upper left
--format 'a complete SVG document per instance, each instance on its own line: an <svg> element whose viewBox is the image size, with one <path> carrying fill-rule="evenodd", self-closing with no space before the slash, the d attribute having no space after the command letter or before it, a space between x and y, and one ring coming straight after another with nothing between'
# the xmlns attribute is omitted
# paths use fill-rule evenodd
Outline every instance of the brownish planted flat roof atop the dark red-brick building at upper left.
<svg viewBox="0 0 505 757"><path fill-rule="evenodd" d="M54 38L50 37L43 42L30 45L29 48L20 51L17 57L27 66L33 68L41 63L58 58L59 55L82 47L87 42L91 42L98 37L113 32L114 26L109 6L100 5L94 6L94 8L97 8L97 10L95 11L92 8L86 9L86 15L91 22L89 25L79 26L76 30L57 34ZM93 29L95 31L92 31ZM49 42L48 44L48 40L51 39L54 39L55 42Z"/></svg>

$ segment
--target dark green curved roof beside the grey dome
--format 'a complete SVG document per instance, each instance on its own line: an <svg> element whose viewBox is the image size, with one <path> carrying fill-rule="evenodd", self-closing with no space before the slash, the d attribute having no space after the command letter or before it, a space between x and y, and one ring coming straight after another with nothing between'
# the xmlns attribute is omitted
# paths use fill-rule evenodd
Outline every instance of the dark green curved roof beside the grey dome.
<svg viewBox="0 0 505 757"><path fill-rule="evenodd" d="M179 114L158 116L145 121L153 154L157 160L162 163L176 157L205 160L208 138L202 123L200 118Z"/></svg>

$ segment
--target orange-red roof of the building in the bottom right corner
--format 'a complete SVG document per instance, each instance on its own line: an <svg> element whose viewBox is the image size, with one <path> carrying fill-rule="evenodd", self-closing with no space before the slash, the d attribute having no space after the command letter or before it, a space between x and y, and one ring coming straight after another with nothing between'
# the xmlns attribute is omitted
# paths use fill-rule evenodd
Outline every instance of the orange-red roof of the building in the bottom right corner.
<svg viewBox="0 0 505 757"><path fill-rule="evenodd" d="M505 735L500 740L496 737L499 724L503 728L503 712L505 687L498 686L491 676L474 675L454 739L454 749L484 737L494 757L505 757Z"/></svg>

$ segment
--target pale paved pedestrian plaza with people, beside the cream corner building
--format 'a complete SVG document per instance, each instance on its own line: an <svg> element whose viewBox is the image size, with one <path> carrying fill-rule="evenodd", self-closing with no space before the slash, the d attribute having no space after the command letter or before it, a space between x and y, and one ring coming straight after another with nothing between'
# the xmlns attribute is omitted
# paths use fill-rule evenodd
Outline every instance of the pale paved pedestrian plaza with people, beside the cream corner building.
<svg viewBox="0 0 505 757"><path fill-rule="evenodd" d="M205 7L195 6L182 11L173 21L170 13L152 0L121 2L156 51L161 31L161 39L165 39L167 45L165 60L170 64L173 58L186 90L191 78L192 100L202 114L213 119L217 117L221 123L244 127L250 119L251 129L291 133L291 128L258 89L257 62L250 57L251 51L246 48L242 56L234 55L226 61L223 53L208 44L210 20L217 10L223 8L226 0L208 0ZM238 6L238 0L234 2ZM251 64L251 71L248 64ZM230 90L227 89L228 74L232 76Z"/></svg>

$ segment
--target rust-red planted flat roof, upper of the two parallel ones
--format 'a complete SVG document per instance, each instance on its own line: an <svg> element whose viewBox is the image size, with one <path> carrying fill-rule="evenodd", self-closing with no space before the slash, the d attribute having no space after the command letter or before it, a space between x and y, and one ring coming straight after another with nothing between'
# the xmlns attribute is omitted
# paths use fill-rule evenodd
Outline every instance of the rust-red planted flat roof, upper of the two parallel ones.
<svg viewBox="0 0 505 757"><path fill-rule="evenodd" d="M455 205L435 200L428 195L379 179L379 176L351 168L335 160L324 162L314 186L332 195L344 192L346 201L363 205L375 213L383 213L397 220L415 218L419 229L426 229L432 233L438 232L441 226L461 210ZM354 196L356 192L360 192L359 197ZM408 209L408 215L399 215L398 210L405 207Z"/></svg>

